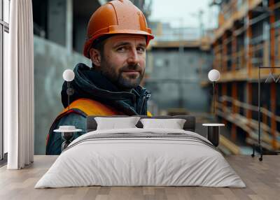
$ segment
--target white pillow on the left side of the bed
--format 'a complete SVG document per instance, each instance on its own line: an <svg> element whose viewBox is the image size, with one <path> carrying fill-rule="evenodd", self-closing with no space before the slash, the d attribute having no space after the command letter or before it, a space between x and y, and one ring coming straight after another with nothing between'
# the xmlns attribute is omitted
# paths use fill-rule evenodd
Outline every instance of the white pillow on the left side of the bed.
<svg viewBox="0 0 280 200"><path fill-rule="evenodd" d="M139 119L140 117L94 117L97 130L137 128L135 125Z"/></svg>

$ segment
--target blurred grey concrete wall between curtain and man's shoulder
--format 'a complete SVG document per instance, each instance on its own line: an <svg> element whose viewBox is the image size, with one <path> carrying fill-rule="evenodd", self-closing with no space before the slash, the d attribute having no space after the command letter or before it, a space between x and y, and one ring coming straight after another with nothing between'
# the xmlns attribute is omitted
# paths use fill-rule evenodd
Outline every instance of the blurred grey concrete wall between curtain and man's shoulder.
<svg viewBox="0 0 280 200"><path fill-rule="evenodd" d="M90 59L76 52L69 54L65 47L34 36L35 155L45 154L48 130L63 108L62 73L79 62L91 66Z"/></svg>

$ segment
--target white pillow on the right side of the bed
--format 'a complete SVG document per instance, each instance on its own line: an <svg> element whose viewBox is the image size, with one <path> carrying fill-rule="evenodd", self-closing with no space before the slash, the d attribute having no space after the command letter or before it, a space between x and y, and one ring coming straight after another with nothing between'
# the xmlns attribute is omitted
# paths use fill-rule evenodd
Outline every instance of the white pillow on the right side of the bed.
<svg viewBox="0 0 280 200"><path fill-rule="evenodd" d="M183 129L186 120L183 119L141 119L143 128Z"/></svg>

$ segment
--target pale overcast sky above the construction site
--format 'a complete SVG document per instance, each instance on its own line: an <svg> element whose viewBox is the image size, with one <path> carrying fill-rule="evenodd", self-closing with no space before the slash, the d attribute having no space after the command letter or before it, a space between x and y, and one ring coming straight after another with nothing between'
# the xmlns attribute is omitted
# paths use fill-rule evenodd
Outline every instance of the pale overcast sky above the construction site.
<svg viewBox="0 0 280 200"><path fill-rule="evenodd" d="M213 0L150 0L152 1L152 13L150 20L171 22L174 27L184 24L184 27L199 27L197 14L203 10L204 27L216 27L218 22L217 8L209 8L209 2ZM180 20L182 19L182 20Z"/></svg>

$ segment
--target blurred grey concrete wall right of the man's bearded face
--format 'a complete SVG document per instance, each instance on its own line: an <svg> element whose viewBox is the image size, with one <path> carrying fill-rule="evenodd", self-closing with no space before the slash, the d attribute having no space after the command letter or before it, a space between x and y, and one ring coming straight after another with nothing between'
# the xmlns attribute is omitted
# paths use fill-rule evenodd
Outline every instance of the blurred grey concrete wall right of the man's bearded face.
<svg viewBox="0 0 280 200"><path fill-rule="evenodd" d="M180 108L183 104L187 110L207 112L211 96L200 83L207 80L209 64L211 55L198 49L181 53L176 49L152 50L148 52L149 79L145 87L151 90L151 99L160 109Z"/></svg>

